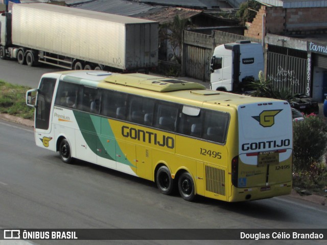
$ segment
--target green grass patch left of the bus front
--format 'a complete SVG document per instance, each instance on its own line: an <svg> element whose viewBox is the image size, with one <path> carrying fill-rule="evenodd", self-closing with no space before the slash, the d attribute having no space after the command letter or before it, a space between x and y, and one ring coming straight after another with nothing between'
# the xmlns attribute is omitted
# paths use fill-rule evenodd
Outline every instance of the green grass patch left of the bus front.
<svg viewBox="0 0 327 245"><path fill-rule="evenodd" d="M26 105L27 86L14 85L0 80L0 113L25 119L34 118L34 108Z"/></svg>

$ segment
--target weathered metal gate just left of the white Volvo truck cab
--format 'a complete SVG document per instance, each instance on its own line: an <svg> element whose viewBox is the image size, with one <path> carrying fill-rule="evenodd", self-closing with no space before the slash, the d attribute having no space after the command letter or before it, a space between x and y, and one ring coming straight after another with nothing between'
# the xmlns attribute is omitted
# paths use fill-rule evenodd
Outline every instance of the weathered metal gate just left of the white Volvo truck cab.
<svg viewBox="0 0 327 245"><path fill-rule="evenodd" d="M212 50L192 45L185 46L185 75L202 81L210 81Z"/></svg>

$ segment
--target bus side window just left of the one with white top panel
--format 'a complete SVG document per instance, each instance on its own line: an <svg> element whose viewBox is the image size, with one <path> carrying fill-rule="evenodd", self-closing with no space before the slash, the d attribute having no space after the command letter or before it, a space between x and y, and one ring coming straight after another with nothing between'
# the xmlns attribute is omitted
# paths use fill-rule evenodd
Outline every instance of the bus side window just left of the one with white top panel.
<svg viewBox="0 0 327 245"><path fill-rule="evenodd" d="M178 105L173 103L158 103L155 111L155 126L159 129L175 132Z"/></svg>

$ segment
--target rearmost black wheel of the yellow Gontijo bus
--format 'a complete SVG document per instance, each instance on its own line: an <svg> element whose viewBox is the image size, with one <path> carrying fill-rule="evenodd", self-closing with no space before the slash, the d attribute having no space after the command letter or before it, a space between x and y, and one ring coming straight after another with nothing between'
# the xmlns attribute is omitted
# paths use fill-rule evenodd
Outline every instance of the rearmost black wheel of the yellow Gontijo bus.
<svg viewBox="0 0 327 245"><path fill-rule="evenodd" d="M178 178L178 191L182 199L193 201L195 199L194 180L189 172L182 173Z"/></svg>

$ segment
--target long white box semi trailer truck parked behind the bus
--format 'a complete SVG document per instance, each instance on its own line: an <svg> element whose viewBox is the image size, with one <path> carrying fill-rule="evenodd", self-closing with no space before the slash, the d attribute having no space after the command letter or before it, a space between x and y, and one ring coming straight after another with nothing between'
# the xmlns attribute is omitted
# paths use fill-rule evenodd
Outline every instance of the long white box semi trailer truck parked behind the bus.
<svg viewBox="0 0 327 245"><path fill-rule="evenodd" d="M67 69L148 71L158 22L51 4L14 4L0 16L0 58Z"/></svg>

